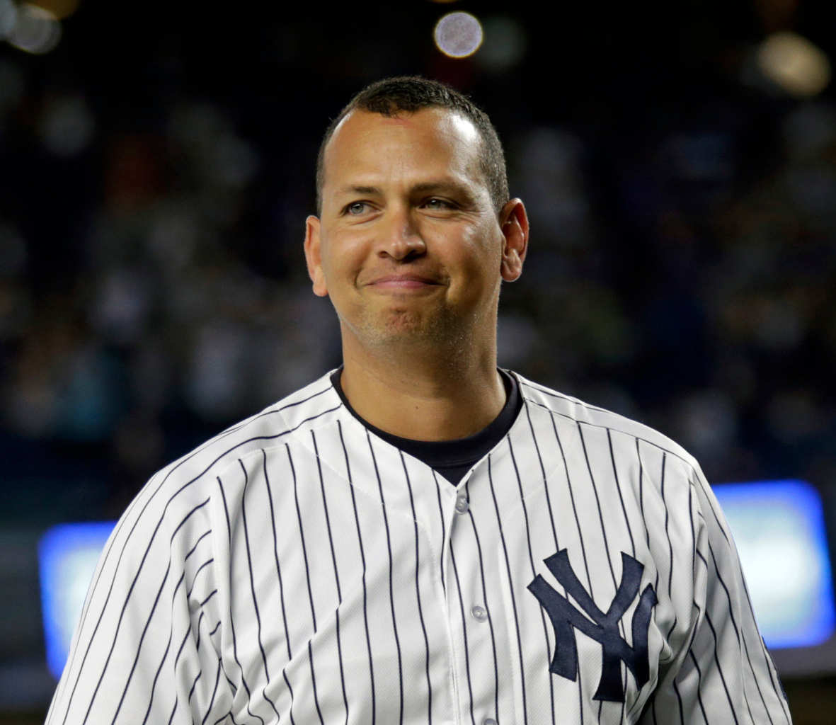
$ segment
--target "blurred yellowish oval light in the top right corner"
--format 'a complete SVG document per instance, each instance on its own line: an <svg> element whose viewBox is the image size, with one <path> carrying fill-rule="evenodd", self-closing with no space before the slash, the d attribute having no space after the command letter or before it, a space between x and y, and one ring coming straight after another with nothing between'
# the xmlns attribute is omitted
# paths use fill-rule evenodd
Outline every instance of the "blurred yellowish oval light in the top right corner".
<svg viewBox="0 0 836 725"><path fill-rule="evenodd" d="M788 94L813 98L830 83L830 60L807 38L789 30L772 33L757 50L757 64Z"/></svg>

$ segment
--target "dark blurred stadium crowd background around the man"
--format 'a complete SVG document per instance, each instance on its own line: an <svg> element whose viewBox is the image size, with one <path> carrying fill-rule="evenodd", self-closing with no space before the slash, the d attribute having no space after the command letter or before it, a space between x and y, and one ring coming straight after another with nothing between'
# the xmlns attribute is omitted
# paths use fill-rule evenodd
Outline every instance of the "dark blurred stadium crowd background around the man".
<svg viewBox="0 0 836 725"><path fill-rule="evenodd" d="M506 146L501 365L836 518L830 3L640 4L0 0L0 722L55 684L43 532L339 365L303 221L326 125L389 75ZM826 667L784 685L836 720Z"/></svg>

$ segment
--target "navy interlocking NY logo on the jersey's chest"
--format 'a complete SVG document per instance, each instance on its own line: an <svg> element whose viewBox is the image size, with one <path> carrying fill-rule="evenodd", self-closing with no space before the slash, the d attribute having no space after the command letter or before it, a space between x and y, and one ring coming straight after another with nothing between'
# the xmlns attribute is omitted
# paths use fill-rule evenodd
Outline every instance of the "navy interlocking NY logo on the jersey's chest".
<svg viewBox="0 0 836 725"><path fill-rule="evenodd" d="M575 576L566 549L560 549L557 554L545 560L554 578L566 588L566 593L578 602L592 621L569 604L566 597L558 594L540 574L528 585L528 590L538 598L554 626L554 656L549 671L575 682L578 675L578 644L573 630L582 631L584 635L599 642L604 650L601 681L594 699L610 702L624 702L620 664L622 661L633 673L637 687L644 687L650 679L647 631L650 627L650 611L656 604L653 586L649 584L641 593L639 604L633 612L633 646L628 645L619 634L619 620L639 593L641 574L645 567L624 552L621 553L621 562L619 589L615 592L609 610L604 613L595 605L584 585Z"/></svg>

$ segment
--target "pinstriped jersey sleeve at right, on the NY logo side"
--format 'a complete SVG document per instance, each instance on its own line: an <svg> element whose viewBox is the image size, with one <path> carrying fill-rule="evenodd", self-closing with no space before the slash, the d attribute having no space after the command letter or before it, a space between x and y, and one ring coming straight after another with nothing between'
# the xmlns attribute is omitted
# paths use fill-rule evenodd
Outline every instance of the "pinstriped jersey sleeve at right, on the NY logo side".
<svg viewBox="0 0 836 725"><path fill-rule="evenodd" d="M640 719L656 723L791 725L786 697L757 630L732 534L699 467L690 482L694 601L686 646L660 671Z"/></svg>

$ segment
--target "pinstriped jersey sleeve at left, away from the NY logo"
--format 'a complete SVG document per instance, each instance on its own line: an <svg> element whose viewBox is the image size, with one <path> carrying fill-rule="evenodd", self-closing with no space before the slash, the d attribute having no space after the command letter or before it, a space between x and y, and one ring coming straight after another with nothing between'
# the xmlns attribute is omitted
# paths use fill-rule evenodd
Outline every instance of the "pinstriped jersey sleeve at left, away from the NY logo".
<svg viewBox="0 0 836 725"><path fill-rule="evenodd" d="M46 725L220 722L212 500L152 478L99 557Z"/></svg>

